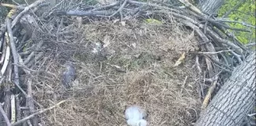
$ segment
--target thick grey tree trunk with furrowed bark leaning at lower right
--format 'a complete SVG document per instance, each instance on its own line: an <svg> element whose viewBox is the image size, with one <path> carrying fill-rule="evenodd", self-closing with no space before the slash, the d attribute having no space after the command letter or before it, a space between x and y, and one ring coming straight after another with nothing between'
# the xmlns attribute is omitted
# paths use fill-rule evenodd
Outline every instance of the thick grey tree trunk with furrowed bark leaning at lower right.
<svg viewBox="0 0 256 126"><path fill-rule="evenodd" d="M255 107L255 52L232 72L212 102L201 112L196 126L241 125Z"/></svg>

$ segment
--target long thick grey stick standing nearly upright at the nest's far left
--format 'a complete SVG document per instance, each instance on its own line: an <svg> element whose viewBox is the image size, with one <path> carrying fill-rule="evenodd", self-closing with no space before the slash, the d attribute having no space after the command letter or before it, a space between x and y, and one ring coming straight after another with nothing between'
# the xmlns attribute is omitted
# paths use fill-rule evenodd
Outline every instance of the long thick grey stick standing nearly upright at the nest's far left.
<svg viewBox="0 0 256 126"><path fill-rule="evenodd" d="M15 64L17 64L19 62L19 57L17 55L17 50L16 50L16 46L13 40L13 31L11 28L11 22L9 20L9 18L7 18L6 20L6 25L7 25L7 31L8 31L8 35L9 35L9 43L12 49L12 54L13 54L13 62ZM16 85L20 85L20 81L19 81L19 69L17 66L14 66L14 83Z"/></svg>

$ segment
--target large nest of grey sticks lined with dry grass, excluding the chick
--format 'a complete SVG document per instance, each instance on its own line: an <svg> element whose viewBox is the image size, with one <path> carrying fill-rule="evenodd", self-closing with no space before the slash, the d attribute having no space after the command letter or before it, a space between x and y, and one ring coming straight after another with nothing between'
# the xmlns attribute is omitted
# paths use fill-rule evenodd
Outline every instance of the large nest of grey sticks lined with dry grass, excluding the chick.
<svg viewBox="0 0 256 126"><path fill-rule="evenodd" d="M248 30L190 3L77 3L11 6L0 31L0 95L14 124L124 125L123 111L136 104L150 125L191 125L250 53L227 31Z"/></svg>

